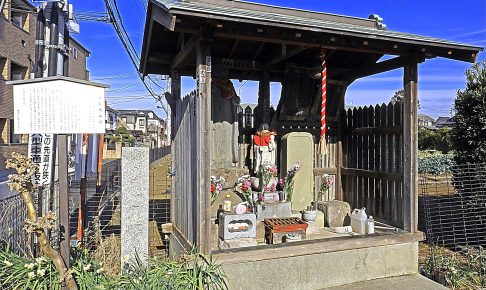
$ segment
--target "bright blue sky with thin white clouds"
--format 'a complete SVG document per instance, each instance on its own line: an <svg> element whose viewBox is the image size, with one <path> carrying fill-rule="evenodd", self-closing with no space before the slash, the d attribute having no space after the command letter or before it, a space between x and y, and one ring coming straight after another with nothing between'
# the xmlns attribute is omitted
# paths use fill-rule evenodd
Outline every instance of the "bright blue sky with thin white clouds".
<svg viewBox="0 0 486 290"><path fill-rule="evenodd" d="M123 20L140 50L143 37L145 7L142 0L119 0ZM259 3L287 6L335 14L367 17L379 14L389 30L409 32L486 46L486 1L484 0L259 0ZM71 0L79 11L104 11L102 0ZM148 96L138 80L136 70L125 53L112 26L105 23L81 22L81 33L74 37L83 43L92 55L88 69L93 80L111 85L108 103L118 109L152 109L163 117L155 100ZM486 59L481 53L478 61ZM465 87L464 71L469 63L432 59L419 66L419 99L421 113L431 116L450 115L456 91ZM351 85L346 103L369 105L387 102L402 87L402 70L361 79ZM116 77L116 78L113 78ZM194 88L192 79L183 80L183 93ZM235 83L235 88L246 102L256 102L258 84ZM272 84L272 103L280 97L280 85Z"/></svg>

